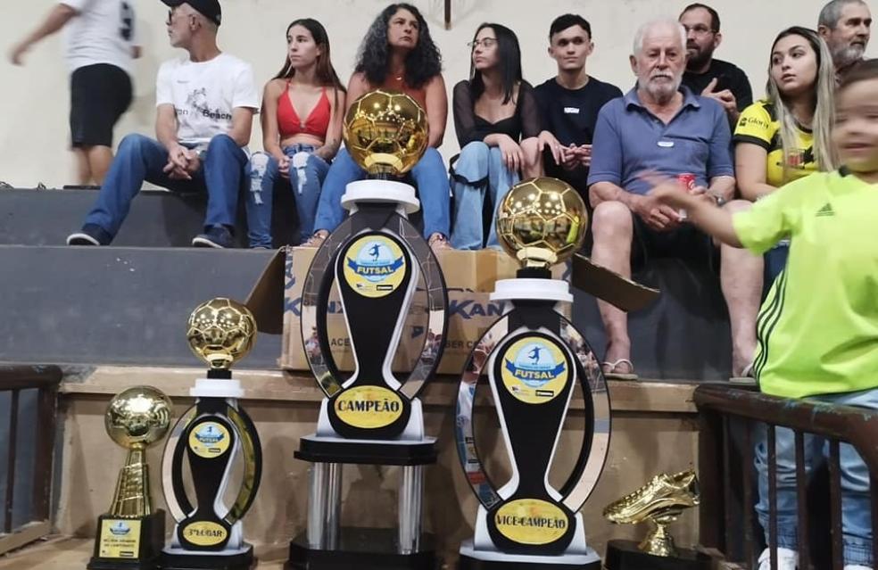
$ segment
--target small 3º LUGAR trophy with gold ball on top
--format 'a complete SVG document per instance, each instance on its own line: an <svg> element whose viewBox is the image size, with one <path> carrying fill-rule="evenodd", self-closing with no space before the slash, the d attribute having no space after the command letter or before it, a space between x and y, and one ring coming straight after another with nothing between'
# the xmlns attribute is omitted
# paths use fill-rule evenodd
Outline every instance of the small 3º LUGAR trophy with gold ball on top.
<svg viewBox="0 0 878 570"><path fill-rule="evenodd" d="M256 427L238 402L244 391L229 368L253 348L255 336L253 314L231 299L204 302L189 316L189 347L210 368L189 390L195 405L165 446L162 483L177 525L162 551L162 569L244 570L254 564L241 519L259 488L262 451ZM235 471L240 481L226 500Z"/></svg>

